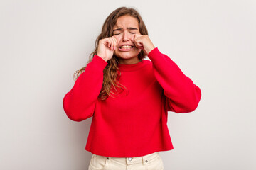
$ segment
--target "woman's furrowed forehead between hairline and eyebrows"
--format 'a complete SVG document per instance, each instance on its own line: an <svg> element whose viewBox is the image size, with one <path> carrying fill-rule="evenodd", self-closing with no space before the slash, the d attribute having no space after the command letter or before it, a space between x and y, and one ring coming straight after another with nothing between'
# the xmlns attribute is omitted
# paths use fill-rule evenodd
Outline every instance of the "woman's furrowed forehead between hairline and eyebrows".
<svg viewBox="0 0 256 170"><path fill-rule="evenodd" d="M133 16L120 16L117 18L117 23L114 25L114 28L127 27L139 28L139 22L137 18L134 18Z"/></svg>

